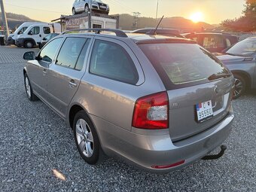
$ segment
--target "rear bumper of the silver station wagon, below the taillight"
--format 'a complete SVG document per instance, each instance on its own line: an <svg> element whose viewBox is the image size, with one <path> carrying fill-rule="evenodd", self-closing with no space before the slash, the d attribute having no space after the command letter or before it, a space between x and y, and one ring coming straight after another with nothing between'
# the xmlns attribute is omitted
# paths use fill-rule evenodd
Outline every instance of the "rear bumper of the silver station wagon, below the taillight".
<svg viewBox="0 0 256 192"><path fill-rule="evenodd" d="M148 171L170 172L187 166L195 160L200 160L221 145L230 134L233 117L231 108L230 113L227 114L224 120L212 126L211 129L179 142L172 142L169 130L164 135L145 136L124 131L120 127L115 133L105 132L106 129L99 130L99 138L102 142L102 149L106 154L121 157ZM97 122L97 120L94 122ZM99 126L96 125L96 127ZM113 125L112 128L114 128ZM118 137L114 134L117 134ZM172 165L182 160L184 160L184 163L172 168L152 168L152 166Z"/></svg>

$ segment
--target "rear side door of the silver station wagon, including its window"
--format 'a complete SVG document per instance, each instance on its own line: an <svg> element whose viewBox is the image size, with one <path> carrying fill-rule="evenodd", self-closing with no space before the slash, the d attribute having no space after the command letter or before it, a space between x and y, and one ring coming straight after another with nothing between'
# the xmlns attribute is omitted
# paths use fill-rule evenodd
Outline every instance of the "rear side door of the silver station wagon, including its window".
<svg viewBox="0 0 256 192"><path fill-rule="evenodd" d="M78 90L84 75L84 62L90 38L67 37L59 50L56 61L47 74L48 100L61 116L66 116L69 103Z"/></svg>

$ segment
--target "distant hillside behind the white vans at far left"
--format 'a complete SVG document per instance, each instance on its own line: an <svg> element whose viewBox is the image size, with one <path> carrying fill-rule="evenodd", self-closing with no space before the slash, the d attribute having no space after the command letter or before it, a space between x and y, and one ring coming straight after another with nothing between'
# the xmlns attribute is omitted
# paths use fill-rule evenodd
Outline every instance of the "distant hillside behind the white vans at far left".
<svg viewBox="0 0 256 192"><path fill-rule="evenodd" d="M1 15L1 12L0 12L0 15ZM8 18L9 29L16 29L18 26L20 26L22 23L26 21L35 21L22 14L6 13L6 17ZM2 17L0 17L0 26L3 26Z"/></svg>

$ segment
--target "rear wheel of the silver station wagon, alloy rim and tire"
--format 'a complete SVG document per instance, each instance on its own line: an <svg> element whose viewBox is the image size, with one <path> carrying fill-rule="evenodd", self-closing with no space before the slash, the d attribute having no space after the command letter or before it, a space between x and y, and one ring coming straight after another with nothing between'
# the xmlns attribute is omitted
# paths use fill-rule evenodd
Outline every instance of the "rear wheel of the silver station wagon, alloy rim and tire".
<svg viewBox="0 0 256 192"><path fill-rule="evenodd" d="M75 114L73 132L75 144L81 157L90 165L99 163L103 151L93 122L85 111L79 111Z"/></svg>

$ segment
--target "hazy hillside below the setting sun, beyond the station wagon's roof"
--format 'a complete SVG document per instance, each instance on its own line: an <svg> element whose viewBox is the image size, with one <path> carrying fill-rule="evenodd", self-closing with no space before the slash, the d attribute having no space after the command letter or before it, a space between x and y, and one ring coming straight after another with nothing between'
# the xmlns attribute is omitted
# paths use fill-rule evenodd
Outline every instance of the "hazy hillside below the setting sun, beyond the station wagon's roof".
<svg viewBox="0 0 256 192"><path fill-rule="evenodd" d="M155 27L160 19L157 19L157 22L154 18L151 17L140 17L139 19L139 26L138 28L145 28L145 27ZM124 30L133 30L133 16L130 14L120 14L120 28ZM178 28L186 30L199 30L202 29L213 29L214 26L199 22L194 23L191 20L187 20L183 17L166 17L163 18L162 23L160 24L162 28Z"/></svg>

